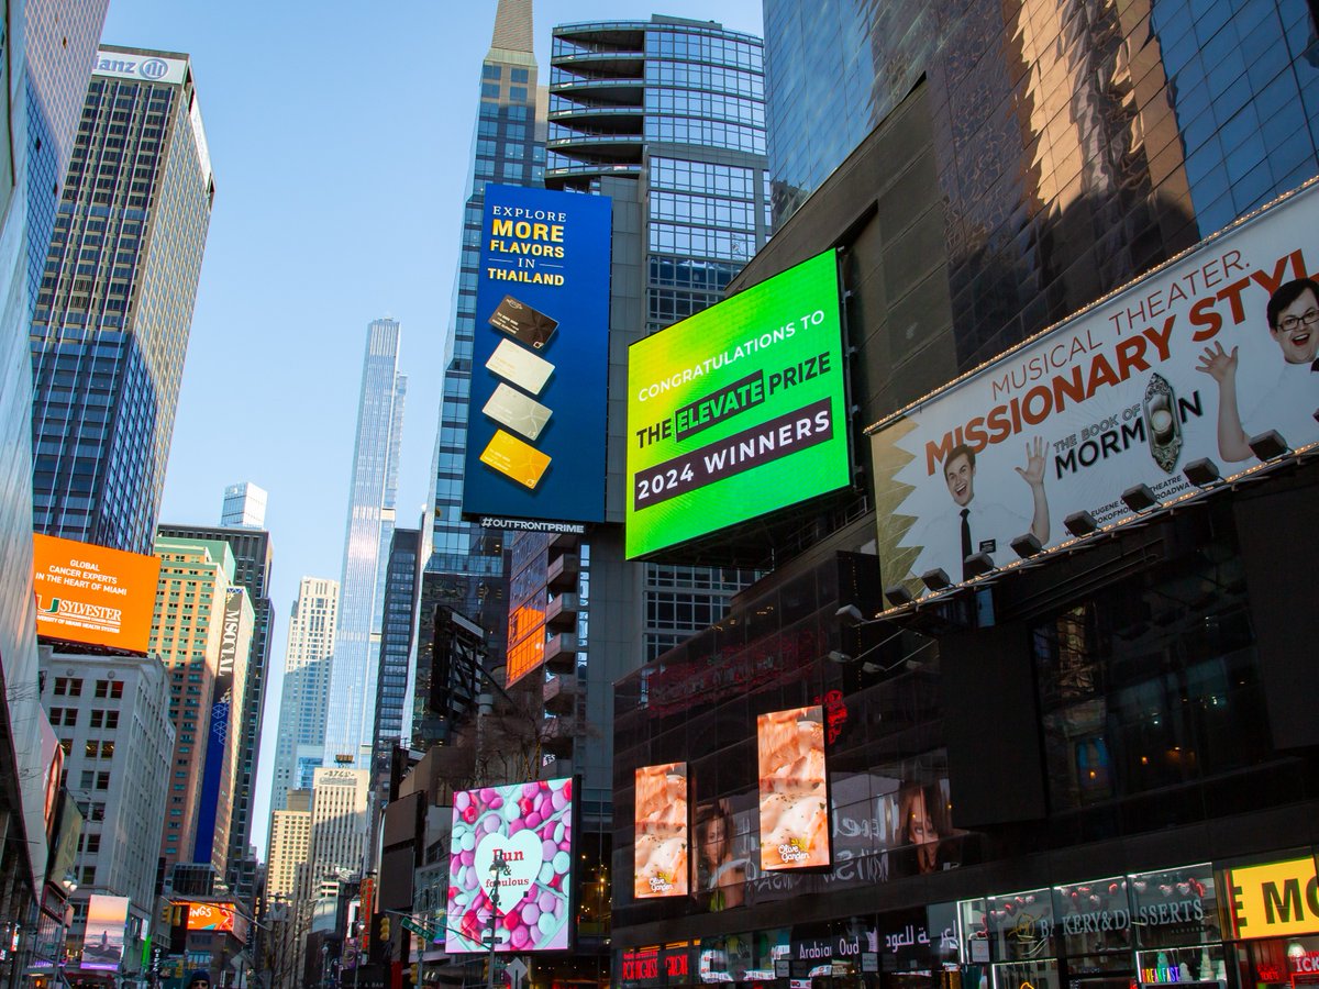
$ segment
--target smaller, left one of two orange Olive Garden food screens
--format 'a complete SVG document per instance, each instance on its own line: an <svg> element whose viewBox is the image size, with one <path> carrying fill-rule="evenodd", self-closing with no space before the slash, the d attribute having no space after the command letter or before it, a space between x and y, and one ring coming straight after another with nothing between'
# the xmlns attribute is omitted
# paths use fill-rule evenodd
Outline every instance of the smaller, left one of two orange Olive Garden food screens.
<svg viewBox="0 0 1319 989"><path fill-rule="evenodd" d="M636 781L633 895L637 899L685 897L691 849L687 764L642 766Z"/></svg>

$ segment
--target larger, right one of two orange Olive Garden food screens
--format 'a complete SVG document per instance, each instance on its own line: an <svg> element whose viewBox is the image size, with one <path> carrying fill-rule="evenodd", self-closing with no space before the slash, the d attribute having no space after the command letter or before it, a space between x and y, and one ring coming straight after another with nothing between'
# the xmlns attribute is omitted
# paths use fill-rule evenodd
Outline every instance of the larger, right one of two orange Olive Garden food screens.
<svg viewBox="0 0 1319 989"><path fill-rule="evenodd" d="M824 708L774 711L756 719L760 767L760 866L813 869L831 861Z"/></svg>

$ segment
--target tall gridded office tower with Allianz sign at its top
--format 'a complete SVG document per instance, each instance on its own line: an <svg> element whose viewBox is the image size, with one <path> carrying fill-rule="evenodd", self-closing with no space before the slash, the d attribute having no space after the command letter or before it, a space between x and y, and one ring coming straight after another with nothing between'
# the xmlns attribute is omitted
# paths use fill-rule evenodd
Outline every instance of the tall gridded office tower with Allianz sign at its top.
<svg viewBox="0 0 1319 989"><path fill-rule="evenodd" d="M150 553L214 193L187 57L102 49L32 320L37 531Z"/></svg>

